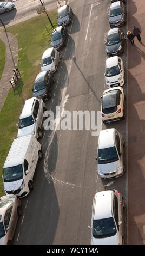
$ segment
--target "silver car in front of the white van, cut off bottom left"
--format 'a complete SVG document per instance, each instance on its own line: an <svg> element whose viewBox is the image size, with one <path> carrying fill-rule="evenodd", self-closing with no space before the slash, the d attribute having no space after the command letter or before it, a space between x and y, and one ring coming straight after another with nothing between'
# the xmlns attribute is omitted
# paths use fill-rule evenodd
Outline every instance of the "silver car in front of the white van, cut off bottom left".
<svg viewBox="0 0 145 256"><path fill-rule="evenodd" d="M22 215L21 200L14 195L0 198L0 245L11 245L18 217Z"/></svg>

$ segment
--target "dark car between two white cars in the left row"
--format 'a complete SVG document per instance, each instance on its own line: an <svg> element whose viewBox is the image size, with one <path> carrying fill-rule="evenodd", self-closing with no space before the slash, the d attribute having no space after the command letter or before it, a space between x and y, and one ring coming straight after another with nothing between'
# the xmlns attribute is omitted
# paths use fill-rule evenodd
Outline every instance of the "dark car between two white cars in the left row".
<svg viewBox="0 0 145 256"><path fill-rule="evenodd" d="M51 97L52 84L55 83L55 77L49 71L40 72L35 79L32 97L38 97L43 101Z"/></svg>

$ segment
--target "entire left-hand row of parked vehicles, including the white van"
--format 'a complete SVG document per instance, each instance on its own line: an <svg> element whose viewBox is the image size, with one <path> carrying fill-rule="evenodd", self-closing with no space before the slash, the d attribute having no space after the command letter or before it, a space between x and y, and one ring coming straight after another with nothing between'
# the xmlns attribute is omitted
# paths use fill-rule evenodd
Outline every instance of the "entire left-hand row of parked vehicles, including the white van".
<svg viewBox="0 0 145 256"><path fill-rule="evenodd" d="M72 22L73 11L69 5L58 9L58 26L52 32L51 47L44 51L41 72L36 76L32 97L24 102L18 121L17 138L14 139L3 166L5 196L0 198L0 244L12 244L18 216L22 215L21 200L33 190L33 176L38 160L42 160L42 138L45 101L51 97L55 83L54 72L62 59L58 48L65 46L69 35L65 25Z"/></svg>

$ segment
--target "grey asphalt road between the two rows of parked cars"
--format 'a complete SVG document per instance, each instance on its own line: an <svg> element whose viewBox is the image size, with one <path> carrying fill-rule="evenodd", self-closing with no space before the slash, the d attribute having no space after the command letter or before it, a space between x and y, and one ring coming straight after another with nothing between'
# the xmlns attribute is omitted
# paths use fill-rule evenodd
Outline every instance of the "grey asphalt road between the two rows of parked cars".
<svg viewBox="0 0 145 256"><path fill-rule="evenodd" d="M48 109L61 107L100 111L107 58L104 39L108 32L108 0L70 1L74 10L67 47ZM126 26L122 28L126 31ZM126 66L126 51L121 55ZM124 86L126 94L126 86ZM126 120L102 129L116 127L126 141ZM37 164L34 190L23 198L14 243L25 245L90 244L91 206L94 193L104 189L120 190L126 200L126 174L118 179L97 178L96 150L98 136L91 130L44 131L41 139L43 160ZM126 160L126 152L124 152Z"/></svg>

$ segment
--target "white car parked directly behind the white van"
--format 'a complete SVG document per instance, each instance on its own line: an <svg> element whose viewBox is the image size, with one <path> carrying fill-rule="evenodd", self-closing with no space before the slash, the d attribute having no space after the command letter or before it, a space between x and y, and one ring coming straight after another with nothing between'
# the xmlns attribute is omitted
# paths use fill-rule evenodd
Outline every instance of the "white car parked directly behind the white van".
<svg viewBox="0 0 145 256"><path fill-rule="evenodd" d="M17 137L34 135L36 138L42 138L43 113L47 110L42 99L32 97L26 100L18 122Z"/></svg>

